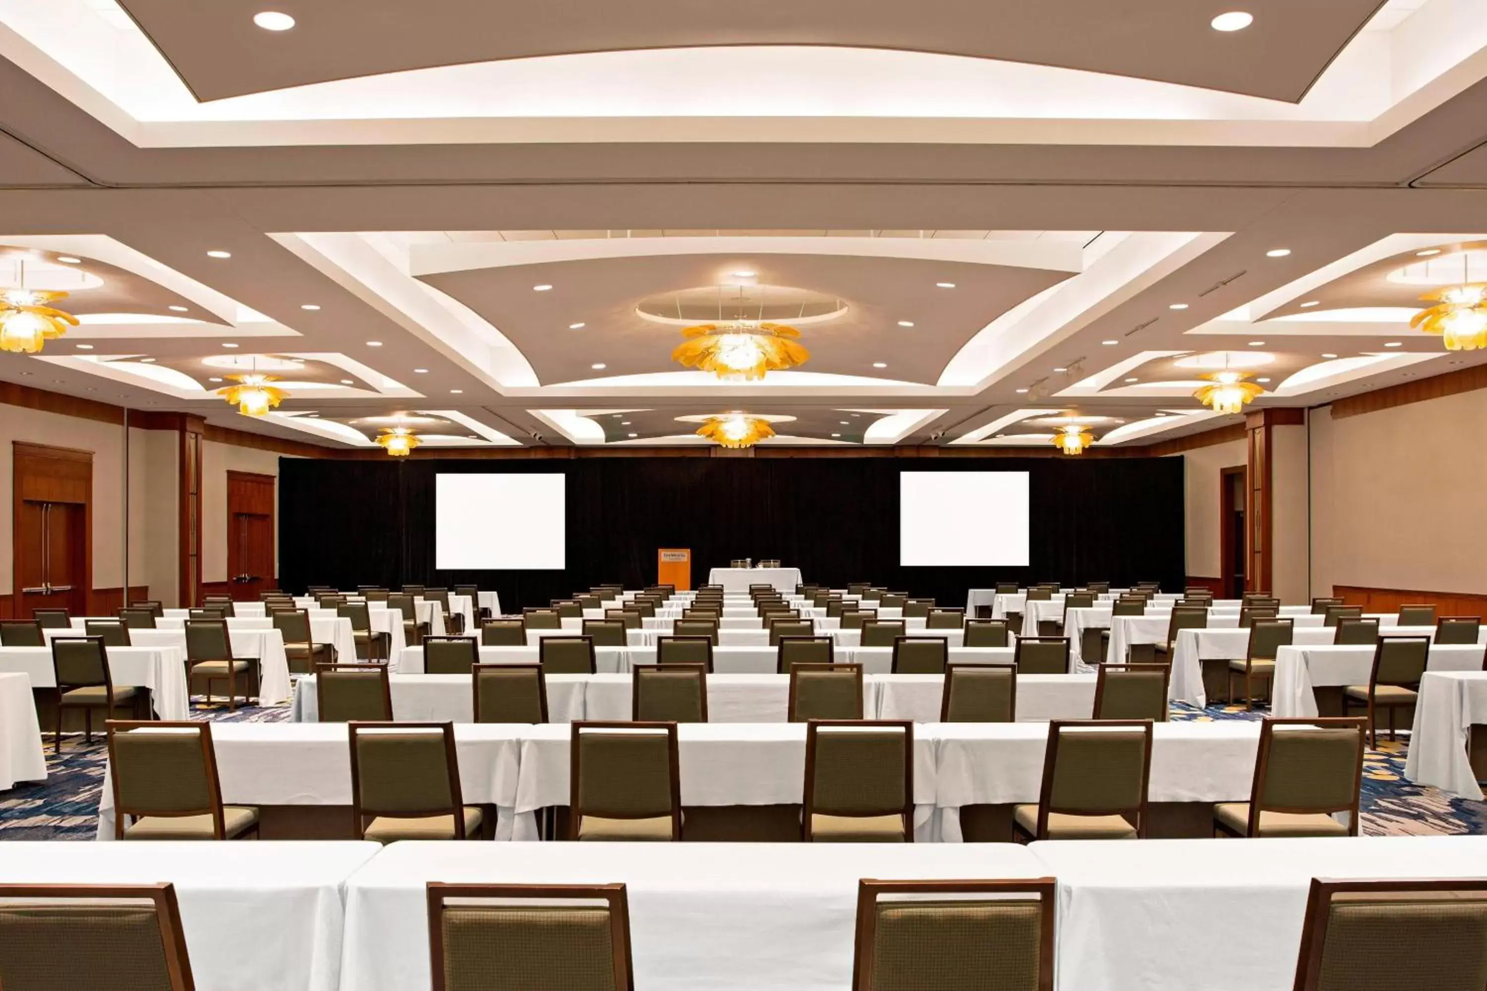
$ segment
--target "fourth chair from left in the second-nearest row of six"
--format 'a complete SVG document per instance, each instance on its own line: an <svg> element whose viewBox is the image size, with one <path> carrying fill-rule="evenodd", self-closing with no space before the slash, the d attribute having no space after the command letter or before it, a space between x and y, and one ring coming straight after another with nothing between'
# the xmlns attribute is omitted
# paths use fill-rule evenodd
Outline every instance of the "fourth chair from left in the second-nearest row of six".
<svg viewBox="0 0 1487 991"><path fill-rule="evenodd" d="M913 753L909 721L806 724L804 841L913 842Z"/></svg>

